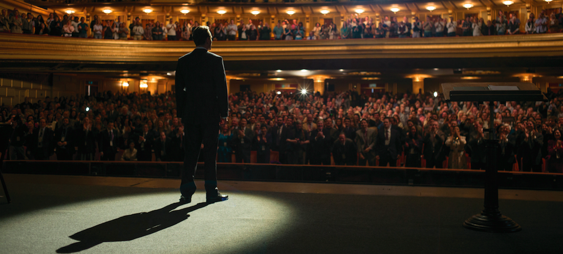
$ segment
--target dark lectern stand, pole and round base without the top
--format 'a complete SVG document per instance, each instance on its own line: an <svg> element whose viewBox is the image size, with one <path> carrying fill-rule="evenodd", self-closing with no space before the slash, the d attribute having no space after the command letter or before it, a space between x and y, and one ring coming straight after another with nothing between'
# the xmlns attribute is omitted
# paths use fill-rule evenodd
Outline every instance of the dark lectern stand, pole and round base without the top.
<svg viewBox="0 0 563 254"><path fill-rule="evenodd" d="M501 214L498 209L497 147L498 140L494 128L494 101L489 101L489 138L486 140L487 167L485 169L485 204L481 214L471 216L463 227L497 233L517 232L522 228L512 219Z"/></svg>

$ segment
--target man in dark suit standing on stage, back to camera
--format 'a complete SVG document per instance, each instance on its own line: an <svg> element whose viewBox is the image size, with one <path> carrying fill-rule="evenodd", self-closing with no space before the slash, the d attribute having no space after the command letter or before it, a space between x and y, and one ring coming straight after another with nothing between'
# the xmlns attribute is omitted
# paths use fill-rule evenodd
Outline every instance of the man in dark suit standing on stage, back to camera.
<svg viewBox="0 0 563 254"><path fill-rule="evenodd" d="M208 52L212 36L208 26L198 26L192 38L196 48L178 59L176 67L177 116L185 126L185 157L181 202L191 202L196 187L194 174L203 143L207 202L227 200L217 190L217 140L219 126L229 116L227 81L223 58Z"/></svg>

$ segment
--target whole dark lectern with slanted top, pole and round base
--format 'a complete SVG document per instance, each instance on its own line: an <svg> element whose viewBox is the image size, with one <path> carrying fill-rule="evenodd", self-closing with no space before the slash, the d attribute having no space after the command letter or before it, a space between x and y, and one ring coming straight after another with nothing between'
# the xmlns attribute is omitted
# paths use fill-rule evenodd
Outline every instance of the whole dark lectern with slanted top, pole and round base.
<svg viewBox="0 0 563 254"><path fill-rule="evenodd" d="M489 101L489 139L485 140L487 165L485 169L485 204L480 214L471 216L463 227L495 233L517 232L522 228L501 214L498 209L498 183L496 151L498 140L494 128L494 101L547 101L537 86L531 83L444 83L446 101Z"/></svg>

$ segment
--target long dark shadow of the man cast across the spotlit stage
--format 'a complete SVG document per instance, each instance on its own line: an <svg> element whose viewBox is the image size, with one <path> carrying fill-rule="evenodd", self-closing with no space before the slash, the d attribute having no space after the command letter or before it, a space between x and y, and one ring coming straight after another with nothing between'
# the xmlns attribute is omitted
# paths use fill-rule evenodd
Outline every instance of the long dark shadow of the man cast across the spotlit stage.
<svg viewBox="0 0 563 254"><path fill-rule="evenodd" d="M70 235L70 238L80 242L59 248L57 253L74 253L94 247L103 242L131 241L144 237L162 229L171 227L187 219L191 211L195 211L210 203L199 203L181 210L172 211L185 203L177 202L149 213L126 215L115 220L84 229Z"/></svg>

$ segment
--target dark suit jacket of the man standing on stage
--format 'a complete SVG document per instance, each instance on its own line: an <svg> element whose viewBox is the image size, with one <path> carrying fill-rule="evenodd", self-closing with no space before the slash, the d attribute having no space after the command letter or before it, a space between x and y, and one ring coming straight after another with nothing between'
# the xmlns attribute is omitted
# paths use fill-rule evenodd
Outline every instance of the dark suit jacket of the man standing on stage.
<svg viewBox="0 0 563 254"><path fill-rule="evenodd" d="M176 67L176 104L182 123L217 124L220 117L229 116L223 58L202 48L180 57Z"/></svg>

